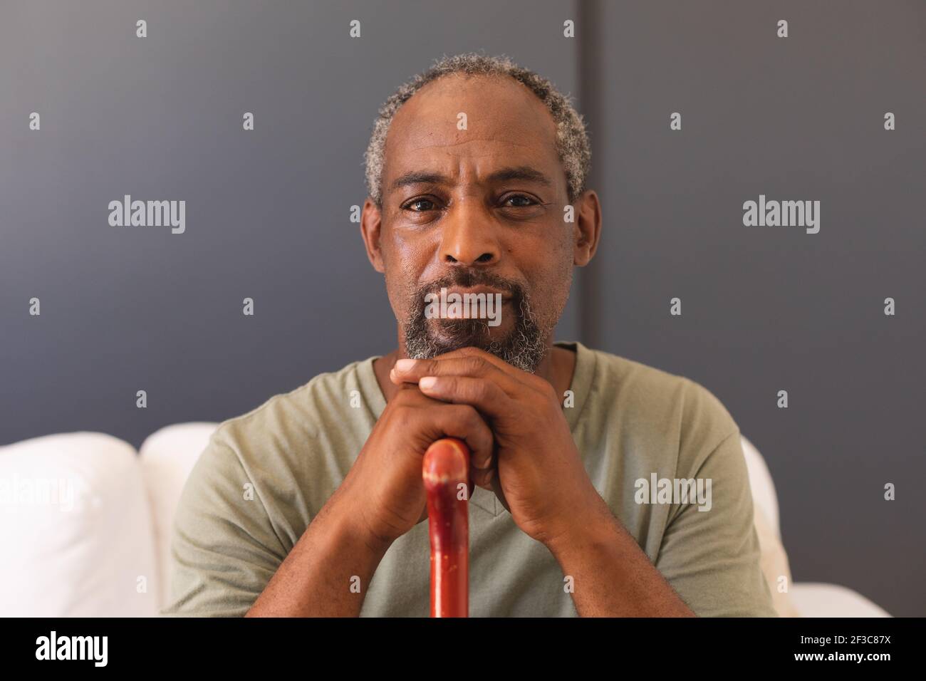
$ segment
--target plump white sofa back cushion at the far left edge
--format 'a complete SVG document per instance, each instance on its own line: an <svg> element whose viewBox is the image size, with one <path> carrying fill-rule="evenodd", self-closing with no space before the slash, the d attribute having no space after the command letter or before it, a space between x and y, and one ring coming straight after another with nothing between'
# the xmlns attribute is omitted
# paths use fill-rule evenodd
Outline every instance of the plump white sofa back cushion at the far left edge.
<svg viewBox="0 0 926 681"><path fill-rule="evenodd" d="M0 448L0 546L6 616L157 613L141 467L112 435L44 435Z"/></svg>

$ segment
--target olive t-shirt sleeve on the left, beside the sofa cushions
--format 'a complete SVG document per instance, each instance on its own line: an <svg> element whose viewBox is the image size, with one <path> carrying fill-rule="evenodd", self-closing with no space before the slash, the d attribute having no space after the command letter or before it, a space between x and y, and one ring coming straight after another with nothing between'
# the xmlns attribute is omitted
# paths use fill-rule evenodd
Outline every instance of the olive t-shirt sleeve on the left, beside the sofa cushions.
<svg viewBox="0 0 926 681"><path fill-rule="evenodd" d="M244 616L286 557L241 459L217 435L181 493L165 616Z"/></svg>

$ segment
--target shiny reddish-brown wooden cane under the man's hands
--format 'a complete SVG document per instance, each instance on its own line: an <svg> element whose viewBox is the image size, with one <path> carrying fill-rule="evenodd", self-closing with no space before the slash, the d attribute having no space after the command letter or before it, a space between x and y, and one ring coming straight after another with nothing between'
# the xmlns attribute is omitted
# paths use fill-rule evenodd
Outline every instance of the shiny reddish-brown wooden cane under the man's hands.
<svg viewBox="0 0 926 681"><path fill-rule="evenodd" d="M456 437L424 454L431 536L431 616L469 617L469 447Z"/></svg>

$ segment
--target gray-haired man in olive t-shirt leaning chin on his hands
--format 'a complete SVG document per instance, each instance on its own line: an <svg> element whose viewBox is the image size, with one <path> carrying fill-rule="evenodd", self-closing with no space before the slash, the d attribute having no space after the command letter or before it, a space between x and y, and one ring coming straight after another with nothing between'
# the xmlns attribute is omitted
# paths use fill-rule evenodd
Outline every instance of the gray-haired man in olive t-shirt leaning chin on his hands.
<svg viewBox="0 0 926 681"><path fill-rule="evenodd" d="M590 158L569 99L507 58L445 57L385 102L361 233L397 347L219 426L183 490L165 614L426 615L421 458L447 435L472 450L470 614L775 614L729 412L553 340L601 233ZM500 314L426 314L442 289Z"/></svg>

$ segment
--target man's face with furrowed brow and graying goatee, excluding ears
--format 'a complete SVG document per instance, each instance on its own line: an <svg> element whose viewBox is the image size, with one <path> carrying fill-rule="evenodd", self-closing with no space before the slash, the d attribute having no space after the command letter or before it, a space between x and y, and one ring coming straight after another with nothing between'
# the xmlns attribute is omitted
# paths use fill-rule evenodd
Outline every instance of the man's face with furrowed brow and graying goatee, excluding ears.
<svg viewBox="0 0 926 681"><path fill-rule="evenodd" d="M407 355L474 346L534 371L569 297L567 202L556 124L519 82L453 75L413 95L386 140L379 237ZM442 287L502 294L500 322L429 318Z"/></svg>

